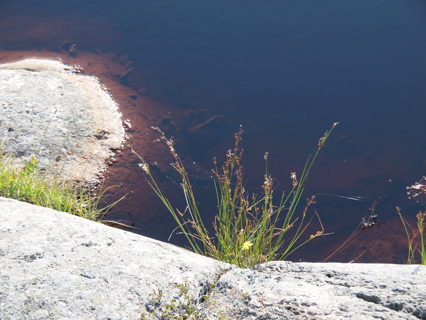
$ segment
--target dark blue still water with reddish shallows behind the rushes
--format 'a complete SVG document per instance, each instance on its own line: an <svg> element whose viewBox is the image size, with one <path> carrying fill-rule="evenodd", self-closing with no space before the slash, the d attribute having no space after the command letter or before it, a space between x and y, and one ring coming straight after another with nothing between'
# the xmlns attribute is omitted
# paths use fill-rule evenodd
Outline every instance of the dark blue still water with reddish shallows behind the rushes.
<svg viewBox="0 0 426 320"><path fill-rule="evenodd" d="M324 131L340 122L306 187L306 197L317 195L311 211L334 234L291 259L318 261L333 252L381 197L375 213L386 224L363 230L330 261L403 263L406 238L394 207L411 223L423 209L408 201L405 187L426 175L425 14L424 1L394 0L2 1L0 47L60 51L69 41L81 53L128 55L133 70L121 82L161 106L153 125L176 135L178 149L196 162L194 184L206 219L213 220L216 207L208 200L211 159L224 160L240 124L250 186L261 185L268 151L278 192L290 189L290 173L301 172ZM173 125L161 120L166 111ZM142 138L155 138L135 123L143 113L124 111L140 148ZM194 132L182 120L191 115L198 123L222 117ZM168 161L160 147L143 156ZM108 218L167 240L175 223L132 154L124 152L111 172L105 183L122 184L113 197L130 194ZM178 188L163 182L178 206ZM179 236L171 241L184 245Z"/></svg>

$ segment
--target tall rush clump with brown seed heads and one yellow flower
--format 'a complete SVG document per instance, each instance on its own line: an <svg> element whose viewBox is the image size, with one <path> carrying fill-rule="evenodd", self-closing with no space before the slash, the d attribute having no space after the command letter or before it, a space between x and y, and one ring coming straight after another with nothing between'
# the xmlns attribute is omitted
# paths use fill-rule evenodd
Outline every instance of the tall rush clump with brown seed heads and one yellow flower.
<svg viewBox="0 0 426 320"><path fill-rule="evenodd" d="M336 125L337 123L334 123L331 130ZM291 192L288 195L283 192L279 204L274 205L272 201L273 179L267 169L261 195L257 193L250 194L246 188L242 178L243 169L241 166L243 150L239 149L239 142L243 132L240 127L239 132L235 134L234 149L227 152L222 170L217 168L216 158L214 159L215 169L213 174L218 213L213 223L216 233L215 238L213 238L209 235L201 219L189 177L174 148L173 137L167 139L159 128L153 129L160 134L160 138L157 141L164 140L175 159L175 162L171 165L181 176L180 185L186 200L185 209L182 211L173 209L164 193L161 192L155 183L148 163L137 154L142 161L139 166L150 177L148 183L173 215L178 223L178 228L186 236L195 252L239 267L249 268L273 259L285 259L306 242L323 234L324 230L322 229L302 241L302 244L297 244L300 236L314 218L314 215L312 215L309 220L306 219L309 205L315 203L314 197L307 200L299 217L295 218L294 215L296 207L302 198L306 180L314 160L331 130L326 131L324 137L320 139L318 150L314 157L308 158L300 180L297 180L295 172L291 173L293 186ZM136 154L133 148L130 148ZM268 153L265 153L264 157L267 165ZM266 168L268 167L266 166ZM279 220L280 218L281 220ZM297 224L296 221L298 222ZM292 228L295 229L294 235L289 240L285 239L285 233Z"/></svg>

